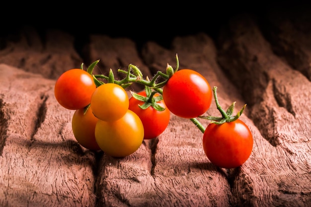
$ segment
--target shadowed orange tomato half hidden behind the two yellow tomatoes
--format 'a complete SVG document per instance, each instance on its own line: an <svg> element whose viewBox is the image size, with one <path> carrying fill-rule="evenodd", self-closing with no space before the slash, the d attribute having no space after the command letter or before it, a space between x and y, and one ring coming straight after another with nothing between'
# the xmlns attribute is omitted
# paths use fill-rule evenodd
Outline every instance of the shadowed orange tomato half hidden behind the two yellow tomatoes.
<svg viewBox="0 0 311 207"><path fill-rule="evenodd" d="M72 119L72 129L78 143L90 150L99 150L95 140L95 126L98 119L93 115L91 107L85 114L84 109L75 111Z"/></svg>

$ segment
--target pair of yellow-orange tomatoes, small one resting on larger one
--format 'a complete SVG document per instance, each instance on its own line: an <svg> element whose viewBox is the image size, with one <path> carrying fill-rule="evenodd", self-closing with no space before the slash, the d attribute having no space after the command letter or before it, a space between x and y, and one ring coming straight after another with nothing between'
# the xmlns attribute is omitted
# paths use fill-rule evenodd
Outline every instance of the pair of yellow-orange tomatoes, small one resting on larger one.
<svg viewBox="0 0 311 207"><path fill-rule="evenodd" d="M140 147L144 139L143 123L129 110L129 97L123 87L115 83L98 86L90 108L98 118L95 139L105 153L125 157Z"/></svg>

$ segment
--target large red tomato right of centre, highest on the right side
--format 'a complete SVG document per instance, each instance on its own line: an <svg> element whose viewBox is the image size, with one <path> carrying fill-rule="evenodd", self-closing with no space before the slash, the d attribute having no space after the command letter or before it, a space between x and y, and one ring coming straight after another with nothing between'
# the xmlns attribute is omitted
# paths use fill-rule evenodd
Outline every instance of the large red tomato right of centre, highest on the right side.
<svg viewBox="0 0 311 207"><path fill-rule="evenodd" d="M196 118L204 114L212 102L212 89L203 75L192 69L175 72L163 87L163 100L176 116Z"/></svg>

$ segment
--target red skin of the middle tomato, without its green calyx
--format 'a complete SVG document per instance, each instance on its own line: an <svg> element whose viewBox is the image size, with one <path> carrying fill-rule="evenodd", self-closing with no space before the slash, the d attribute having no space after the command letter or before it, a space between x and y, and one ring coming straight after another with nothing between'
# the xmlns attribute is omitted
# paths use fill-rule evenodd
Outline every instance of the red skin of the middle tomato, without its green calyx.
<svg viewBox="0 0 311 207"><path fill-rule="evenodd" d="M145 90L138 92L138 94L146 97ZM155 96L158 96L158 94L155 94ZM158 105L165 108L163 111L157 111L152 106L141 109L139 105L143 105L144 102L134 97L131 97L129 101L129 109L135 112L143 122L144 139L156 138L164 132L169 123L170 112L163 100L157 102Z"/></svg>

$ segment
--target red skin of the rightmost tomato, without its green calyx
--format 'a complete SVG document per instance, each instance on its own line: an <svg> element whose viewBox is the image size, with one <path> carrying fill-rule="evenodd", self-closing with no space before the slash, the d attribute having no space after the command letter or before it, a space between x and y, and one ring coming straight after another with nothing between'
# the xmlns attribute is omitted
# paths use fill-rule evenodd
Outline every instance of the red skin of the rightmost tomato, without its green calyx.
<svg viewBox="0 0 311 207"><path fill-rule="evenodd" d="M250 156L252 148L252 134L239 119L221 125L210 123L203 135L206 156L221 168L241 166Z"/></svg>

